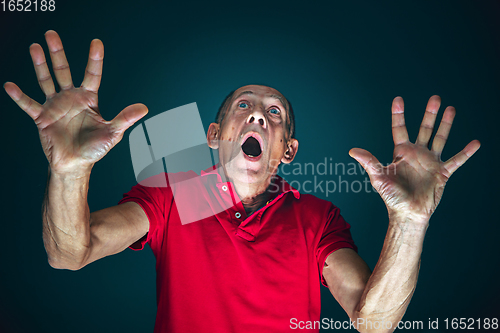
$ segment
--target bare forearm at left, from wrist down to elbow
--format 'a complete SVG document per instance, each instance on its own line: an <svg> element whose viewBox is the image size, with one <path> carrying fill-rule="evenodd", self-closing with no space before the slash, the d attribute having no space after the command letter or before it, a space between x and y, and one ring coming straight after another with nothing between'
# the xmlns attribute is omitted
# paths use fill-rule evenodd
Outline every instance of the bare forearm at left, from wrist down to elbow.
<svg viewBox="0 0 500 333"><path fill-rule="evenodd" d="M43 242L54 268L79 269L88 255L89 178L90 170L71 174L49 171L43 205Z"/></svg>

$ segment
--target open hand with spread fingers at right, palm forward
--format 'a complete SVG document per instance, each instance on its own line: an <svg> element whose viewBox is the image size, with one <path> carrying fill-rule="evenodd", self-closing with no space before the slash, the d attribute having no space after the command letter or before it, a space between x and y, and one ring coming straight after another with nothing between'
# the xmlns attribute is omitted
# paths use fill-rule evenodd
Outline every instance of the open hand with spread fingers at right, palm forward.
<svg viewBox="0 0 500 333"><path fill-rule="evenodd" d="M387 206L389 216L404 216L427 223L441 200L450 176L480 147L479 141L471 141L448 161L441 161L441 152L455 117L455 108L449 106L444 111L429 150L429 140L440 105L439 96L429 99L417 141L411 143L406 131L403 99L394 99L392 136L395 147L390 165L382 166L375 156L363 149L353 148L349 152L367 171L372 186Z"/></svg>

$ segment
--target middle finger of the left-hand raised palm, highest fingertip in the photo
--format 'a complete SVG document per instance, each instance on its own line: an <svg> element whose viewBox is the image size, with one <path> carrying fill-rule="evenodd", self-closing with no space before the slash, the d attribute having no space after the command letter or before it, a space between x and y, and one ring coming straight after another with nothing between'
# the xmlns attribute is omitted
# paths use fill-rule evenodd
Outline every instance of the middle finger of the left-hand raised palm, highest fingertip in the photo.
<svg viewBox="0 0 500 333"><path fill-rule="evenodd" d="M73 88L73 80L69 70L68 60L62 46L61 38L54 30L49 30L45 33L45 40L49 46L50 59L52 60L52 68L56 76L57 83L62 90Z"/></svg>

